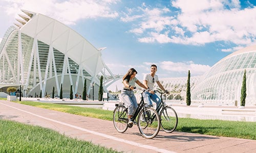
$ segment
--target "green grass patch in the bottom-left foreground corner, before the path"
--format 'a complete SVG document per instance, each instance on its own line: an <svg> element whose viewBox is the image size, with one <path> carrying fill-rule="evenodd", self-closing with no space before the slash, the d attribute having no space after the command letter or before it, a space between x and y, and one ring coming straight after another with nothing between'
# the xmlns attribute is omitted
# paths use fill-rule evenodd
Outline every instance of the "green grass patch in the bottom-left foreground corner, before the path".
<svg viewBox="0 0 256 153"><path fill-rule="evenodd" d="M0 152L117 152L53 130L0 119Z"/></svg>

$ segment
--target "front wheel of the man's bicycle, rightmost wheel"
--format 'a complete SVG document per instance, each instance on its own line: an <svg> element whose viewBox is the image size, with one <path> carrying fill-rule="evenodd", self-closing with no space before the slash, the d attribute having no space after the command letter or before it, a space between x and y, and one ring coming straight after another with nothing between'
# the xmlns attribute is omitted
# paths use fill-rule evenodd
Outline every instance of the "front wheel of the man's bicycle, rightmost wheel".
<svg viewBox="0 0 256 153"><path fill-rule="evenodd" d="M178 125L178 116L171 107L165 107L160 113L161 127L166 133L172 133Z"/></svg>

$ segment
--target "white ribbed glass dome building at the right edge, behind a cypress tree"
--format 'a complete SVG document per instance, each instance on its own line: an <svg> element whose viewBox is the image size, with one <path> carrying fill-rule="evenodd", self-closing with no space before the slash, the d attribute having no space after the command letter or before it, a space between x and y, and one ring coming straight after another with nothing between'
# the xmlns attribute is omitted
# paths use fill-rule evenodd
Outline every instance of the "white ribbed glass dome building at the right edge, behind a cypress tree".
<svg viewBox="0 0 256 153"><path fill-rule="evenodd" d="M191 100L199 103L240 104L246 70L246 105L256 105L256 45L234 52L210 68L191 90Z"/></svg>

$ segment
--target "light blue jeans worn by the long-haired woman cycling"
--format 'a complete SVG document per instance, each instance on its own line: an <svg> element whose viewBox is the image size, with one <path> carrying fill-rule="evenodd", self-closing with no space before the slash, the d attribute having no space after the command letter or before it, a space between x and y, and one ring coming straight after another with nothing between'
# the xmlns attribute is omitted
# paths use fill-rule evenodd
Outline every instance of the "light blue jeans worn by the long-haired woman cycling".
<svg viewBox="0 0 256 153"><path fill-rule="evenodd" d="M138 108L137 100L134 95L133 91L122 90L120 99L123 101L124 104L128 107L128 114L133 115Z"/></svg>

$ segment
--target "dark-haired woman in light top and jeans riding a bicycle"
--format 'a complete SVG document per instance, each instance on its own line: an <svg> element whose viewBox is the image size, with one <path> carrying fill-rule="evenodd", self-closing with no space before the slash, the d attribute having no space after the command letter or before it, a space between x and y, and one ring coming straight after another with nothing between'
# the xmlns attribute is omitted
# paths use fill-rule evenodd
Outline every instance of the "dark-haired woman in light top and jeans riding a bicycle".
<svg viewBox="0 0 256 153"><path fill-rule="evenodd" d="M135 88L135 83L137 83L140 87L146 89L146 87L135 77L137 71L134 68L129 69L129 71L123 76L123 90L121 91L121 100L128 107L128 122L127 124L133 124L131 118L135 113L138 104L136 97L134 95L133 89Z"/></svg>

